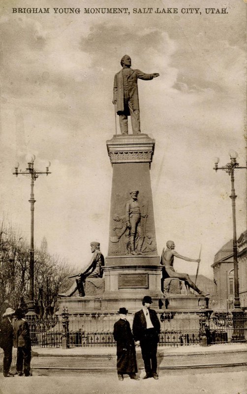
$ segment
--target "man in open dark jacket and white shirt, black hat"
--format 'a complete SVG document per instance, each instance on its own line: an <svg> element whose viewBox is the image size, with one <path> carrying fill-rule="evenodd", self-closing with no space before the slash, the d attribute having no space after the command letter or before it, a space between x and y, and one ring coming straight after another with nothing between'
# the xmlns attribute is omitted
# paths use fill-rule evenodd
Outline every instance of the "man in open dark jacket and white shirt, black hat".
<svg viewBox="0 0 247 394"><path fill-rule="evenodd" d="M160 332L160 323L154 309L150 309L152 298L145 296L142 301L143 308L135 313L133 320L133 335L136 345L141 346L146 375L143 379L158 379L157 375L157 344Z"/></svg>

